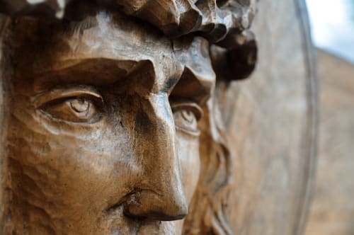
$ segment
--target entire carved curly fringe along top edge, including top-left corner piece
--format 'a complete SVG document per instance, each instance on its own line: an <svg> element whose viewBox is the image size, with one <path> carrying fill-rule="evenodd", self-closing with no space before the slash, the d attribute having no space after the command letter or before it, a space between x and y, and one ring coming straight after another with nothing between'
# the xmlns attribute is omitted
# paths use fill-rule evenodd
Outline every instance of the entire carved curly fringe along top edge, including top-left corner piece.
<svg viewBox="0 0 354 235"><path fill-rule="evenodd" d="M0 0L0 11L16 14L63 16L76 0ZM241 33L251 25L256 0L96 0L100 6L116 7L128 16L152 23L170 38L199 33L211 42L228 33Z"/></svg>

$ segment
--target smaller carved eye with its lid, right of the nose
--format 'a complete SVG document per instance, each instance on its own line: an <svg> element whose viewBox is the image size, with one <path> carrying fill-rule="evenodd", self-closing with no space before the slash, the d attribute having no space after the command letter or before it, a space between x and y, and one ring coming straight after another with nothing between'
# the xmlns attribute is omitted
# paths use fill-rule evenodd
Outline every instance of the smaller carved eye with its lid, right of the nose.
<svg viewBox="0 0 354 235"><path fill-rule="evenodd" d="M198 120L202 117L202 109L196 103L174 103L171 105L176 130L199 134Z"/></svg>

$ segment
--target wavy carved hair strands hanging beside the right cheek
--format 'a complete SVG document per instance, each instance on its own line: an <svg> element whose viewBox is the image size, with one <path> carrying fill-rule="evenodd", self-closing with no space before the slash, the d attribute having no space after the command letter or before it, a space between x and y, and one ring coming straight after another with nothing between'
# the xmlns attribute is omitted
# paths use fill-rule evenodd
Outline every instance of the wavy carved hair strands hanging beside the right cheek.
<svg viewBox="0 0 354 235"><path fill-rule="evenodd" d="M217 98L212 96L200 121L200 172L197 189L185 219L183 234L232 235L229 227L228 197L232 159L224 137L224 123Z"/></svg>

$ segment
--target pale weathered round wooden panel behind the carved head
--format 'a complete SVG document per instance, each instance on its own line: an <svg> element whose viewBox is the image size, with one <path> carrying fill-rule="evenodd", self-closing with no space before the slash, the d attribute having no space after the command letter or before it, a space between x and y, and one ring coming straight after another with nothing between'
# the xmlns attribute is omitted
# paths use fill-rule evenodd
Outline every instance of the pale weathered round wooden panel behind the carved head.
<svg viewBox="0 0 354 235"><path fill-rule="evenodd" d="M224 88L222 107L234 159L229 205L234 234L302 234L307 218L316 82L302 4L259 2L252 27L258 36L256 71Z"/></svg>

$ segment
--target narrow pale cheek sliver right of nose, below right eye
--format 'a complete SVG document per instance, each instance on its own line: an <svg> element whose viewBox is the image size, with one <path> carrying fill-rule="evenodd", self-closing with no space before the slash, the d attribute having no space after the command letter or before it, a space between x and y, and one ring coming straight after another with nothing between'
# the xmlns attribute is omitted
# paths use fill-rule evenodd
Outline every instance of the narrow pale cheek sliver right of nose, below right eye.
<svg viewBox="0 0 354 235"><path fill-rule="evenodd" d="M176 148L181 164L181 176L188 203L198 183L200 173L199 138L176 132Z"/></svg>

